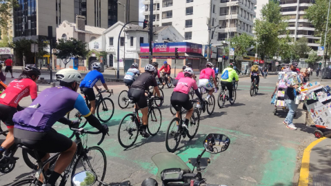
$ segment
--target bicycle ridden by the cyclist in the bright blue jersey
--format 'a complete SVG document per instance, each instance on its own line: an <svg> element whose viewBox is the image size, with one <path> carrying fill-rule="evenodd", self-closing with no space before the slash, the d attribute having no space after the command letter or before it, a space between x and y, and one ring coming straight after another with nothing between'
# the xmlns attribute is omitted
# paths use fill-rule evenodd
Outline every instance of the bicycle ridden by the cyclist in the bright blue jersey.
<svg viewBox="0 0 331 186"><path fill-rule="evenodd" d="M112 102L112 99L110 99L109 97L114 94L113 90L110 90L110 92L108 92L107 90L98 90L99 94L97 94L95 97L99 98L95 101L95 106L97 107L97 116L99 118L100 121L102 122L107 122L110 121L110 119L112 118L112 115L114 114L114 102ZM83 94L83 92L81 92ZM103 93L109 93L108 96L106 96L106 98L103 98ZM85 94L84 94L85 95ZM87 96L84 96L85 101L86 101L86 105L88 105L88 108L91 109L91 104L88 101ZM109 103L107 104L106 102L110 102L111 105L109 105ZM102 107L101 107L102 106ZM108 112L110 111L110 112ZM73 112L74 114L74 118L77 118L80 122L83 121L82 115L80 112ZM103 114L101 118L101 114ZM70 112L68 112L67 114L67 118L70 118ZM80 127L85 127L87 121L83 122L84 124Z"/></svg>

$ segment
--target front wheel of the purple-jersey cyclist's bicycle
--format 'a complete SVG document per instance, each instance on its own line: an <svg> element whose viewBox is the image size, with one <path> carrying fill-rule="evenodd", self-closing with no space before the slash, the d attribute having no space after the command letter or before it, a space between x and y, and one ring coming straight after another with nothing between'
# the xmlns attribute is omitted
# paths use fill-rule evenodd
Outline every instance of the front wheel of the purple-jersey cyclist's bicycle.
<svg viewBox="0 0 331 186"><path fill-rule="evenodd" d="M89 147L79 155L76 163L74 163L74 167L72 167L71 178L73 178L74 174L76 173L89 170L97 176L97 180L103 181L103 178L105 178L106 175L106 169L107 158L103 149L101 149L101 147L95 146ZM102 183L95 184L99 186L102 185ZM74 186L72 182L71 185Z"/></svg>

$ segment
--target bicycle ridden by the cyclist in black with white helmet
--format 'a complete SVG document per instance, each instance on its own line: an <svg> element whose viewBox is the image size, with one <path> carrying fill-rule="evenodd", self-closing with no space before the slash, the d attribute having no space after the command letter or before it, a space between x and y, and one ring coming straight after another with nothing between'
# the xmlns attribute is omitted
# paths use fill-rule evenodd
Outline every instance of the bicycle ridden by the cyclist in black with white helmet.
<svg viewBox="0 0 331 186"><path fill-rule="evenodd" d="M157 135L161 128L162 123L162 114L159 107L154 107L153 103L155 100L160 99L152 96L152 94L148 95L148 133L151 136ZM133 102L133 98L131 99ZM137 103L135 103L136 108L138 107ZM159 116L158 116L159 114ZM139 117L139 112L137 109L134 110L131 114L126 114L121 119L119 123L119 130L117 131L117 137L119 138L119 144L128 149L134 145L134 142L137 141L138 134L142 135L143 129L143 121L142 118ZM126 136L126 137L124 137ZM129 142L130 141L130 142Z"/></svg>

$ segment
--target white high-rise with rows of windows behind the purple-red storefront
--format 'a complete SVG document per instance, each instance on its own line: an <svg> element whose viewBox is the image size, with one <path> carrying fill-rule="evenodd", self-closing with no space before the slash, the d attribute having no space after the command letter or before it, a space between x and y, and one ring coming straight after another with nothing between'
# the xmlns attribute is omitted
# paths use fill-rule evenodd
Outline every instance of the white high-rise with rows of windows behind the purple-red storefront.
<svg viewBox="0 0 331 186"><path fill-rule="evenodd" d="M192 43L207 44L208 24L211 43L221 43L236 33L252 35L256 0L154 0L153 25L173 25ZM150 1L143 1L145 19L149 19Z"/></svg>

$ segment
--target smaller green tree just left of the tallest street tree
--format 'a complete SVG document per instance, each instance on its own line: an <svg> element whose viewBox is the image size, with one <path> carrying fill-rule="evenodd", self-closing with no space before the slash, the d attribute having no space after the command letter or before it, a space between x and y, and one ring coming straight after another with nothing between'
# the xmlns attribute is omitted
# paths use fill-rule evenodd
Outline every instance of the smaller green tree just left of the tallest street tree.
<svg viewBox="0 0 331 186"><path fill-rule="evenodd" d="M248 34L236 34L236 36L231 39L231 48L234 48L234 59L236 59L237 56L243 56L252 43L253 37Z"/></svg>

